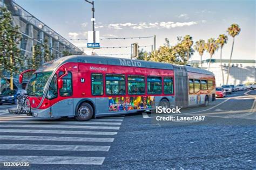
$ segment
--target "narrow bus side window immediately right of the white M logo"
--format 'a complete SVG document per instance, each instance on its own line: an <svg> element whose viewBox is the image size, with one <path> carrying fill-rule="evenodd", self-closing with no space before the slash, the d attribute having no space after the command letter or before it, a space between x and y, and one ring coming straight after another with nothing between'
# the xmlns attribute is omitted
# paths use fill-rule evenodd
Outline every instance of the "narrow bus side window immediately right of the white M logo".
<svg viewBox="0 0 256 170"><path fill-rule="evenodd" d="M92 74L92 95L103 95L103 76L102 74Z"/></svg>

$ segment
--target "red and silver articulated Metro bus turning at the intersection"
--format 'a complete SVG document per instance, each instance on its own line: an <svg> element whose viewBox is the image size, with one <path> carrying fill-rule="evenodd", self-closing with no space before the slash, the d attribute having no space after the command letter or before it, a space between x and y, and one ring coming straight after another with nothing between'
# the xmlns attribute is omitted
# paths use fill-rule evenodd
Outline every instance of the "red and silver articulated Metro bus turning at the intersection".
<svg viewBox="0 0 256 170"><path fill-rule="evenodd" d="M32 74L26 91L31 116L87 121L156 106L207 106L215 100L215 78L189 66L71 55L44 63Z"/></svg>

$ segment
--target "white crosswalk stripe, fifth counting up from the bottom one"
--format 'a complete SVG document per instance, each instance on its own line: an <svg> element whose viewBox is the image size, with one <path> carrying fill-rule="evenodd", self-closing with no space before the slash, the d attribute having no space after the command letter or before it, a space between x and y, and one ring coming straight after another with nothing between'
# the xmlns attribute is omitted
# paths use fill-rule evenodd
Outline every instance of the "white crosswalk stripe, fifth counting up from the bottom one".
<svg viewBox="0 0 256 170"><path fill-rule="evenodd" d="M0 124L0 127L9 128L70 128L70 129L111 129L119 130L119 126L75 126L75 125L17 125L17 124Z"/></svg>

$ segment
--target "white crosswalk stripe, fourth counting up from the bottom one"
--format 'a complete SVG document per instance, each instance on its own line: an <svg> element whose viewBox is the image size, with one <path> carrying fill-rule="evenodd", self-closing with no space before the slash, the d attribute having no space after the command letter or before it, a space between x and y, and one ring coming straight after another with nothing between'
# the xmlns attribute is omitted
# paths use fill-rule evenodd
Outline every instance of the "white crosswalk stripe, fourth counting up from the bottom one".
<svg viewBox="0 0 256 170"><path fill-rule="evenodd" d="M117 132L33 130L33 129L0 129L0 133L50 133L50 134L89 134L89 135L115 135L115 134L117 134ZM1 136L0 136L0 139L1 139Z"/></svg>

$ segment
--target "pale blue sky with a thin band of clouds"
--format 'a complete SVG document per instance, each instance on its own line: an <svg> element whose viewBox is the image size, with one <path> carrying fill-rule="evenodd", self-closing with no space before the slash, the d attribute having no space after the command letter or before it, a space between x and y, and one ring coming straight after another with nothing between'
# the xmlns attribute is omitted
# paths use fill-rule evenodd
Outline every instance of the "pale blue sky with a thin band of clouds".
<svg viewBox="0 0 256 170"><path fill-rule="evenodd" d="M66 39L87 38L92 30L92 5L84 0L15 0L25 10L51 27ZM255 60L255 5L254 0L96 0L96 31L100 38L151 37L156 35L156 47L163 45L165 38L171 45L177 37L189 34L194 44L199 39L207 41L227 34L227 28L236 23L241 27L235 37L233 59ZM87 40L70 40L84 51ZM100 46L131 46L138 42L140 49L151 51L153 38L100 40ZM149 47L142 47L149 46ZM223 48L223 59L229 59L232 37ZM114 54L130 58L130 48L96 49L98 54ZM118 55L117 55L118 54ZM205 52L203 60L210 58ZM220 58L220 50L213 55ZM191 60L199 60L194 53Z"/></svg>

